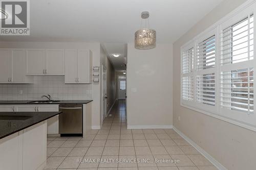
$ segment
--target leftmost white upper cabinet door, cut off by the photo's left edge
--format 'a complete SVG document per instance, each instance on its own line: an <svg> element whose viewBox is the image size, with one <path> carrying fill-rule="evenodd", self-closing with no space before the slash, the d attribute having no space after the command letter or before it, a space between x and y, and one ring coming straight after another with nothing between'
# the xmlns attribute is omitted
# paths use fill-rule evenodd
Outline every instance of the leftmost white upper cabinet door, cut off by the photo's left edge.
<svg viewBox="0 0 256 170"><path fill-rule="evenodd" d="M12 61L9 49L0 49L0 83L10 83L12 77Z"/></svg>

